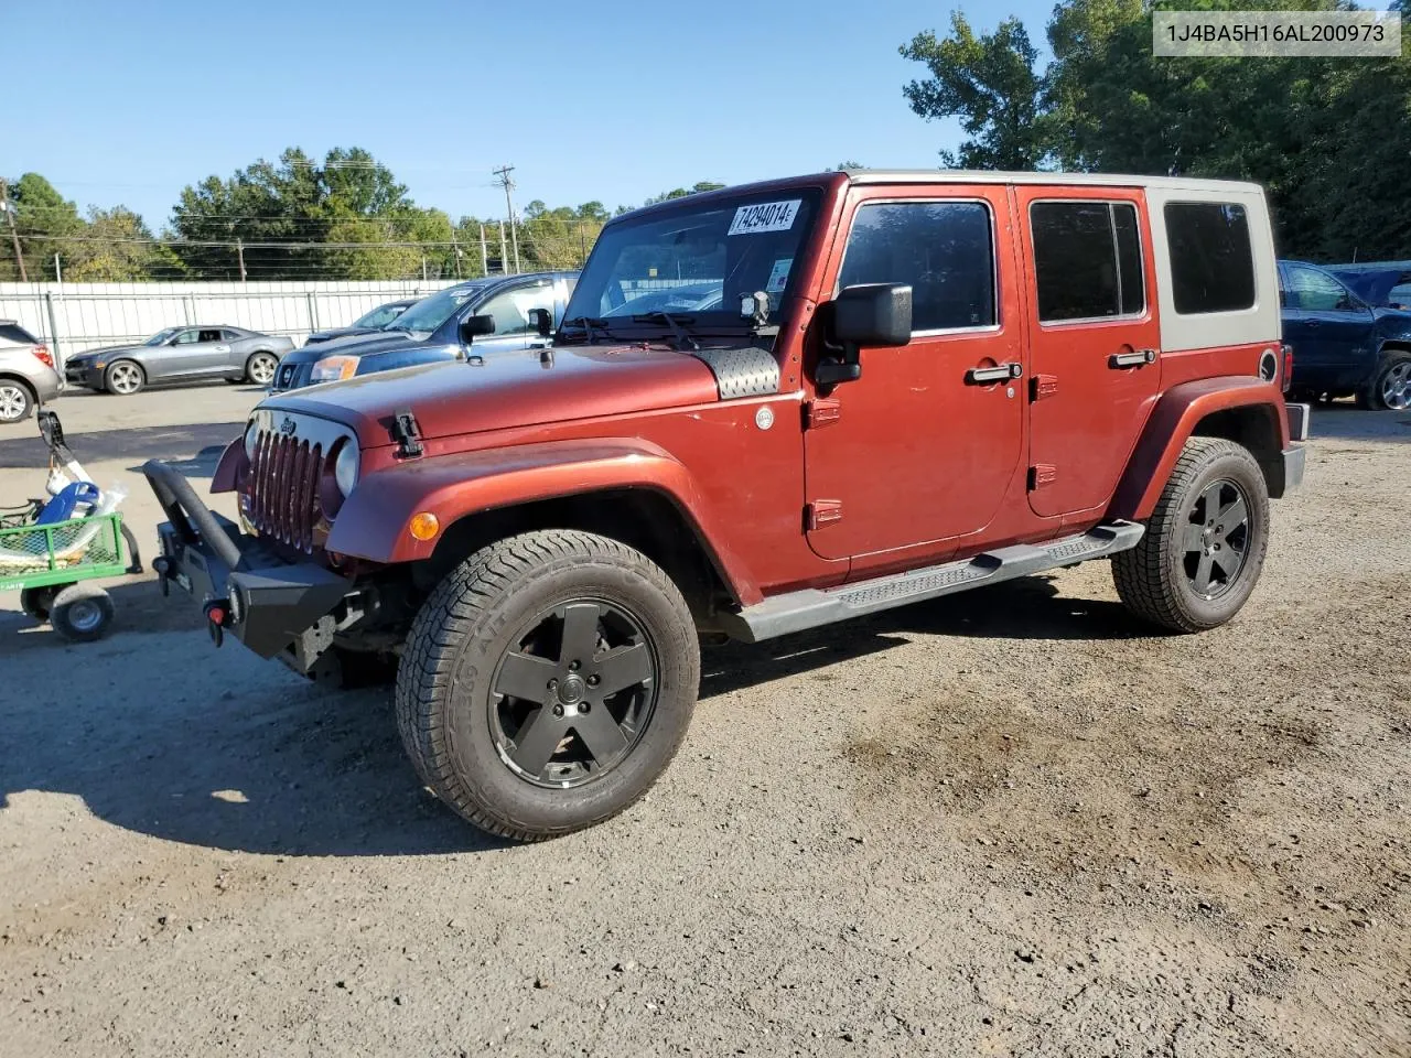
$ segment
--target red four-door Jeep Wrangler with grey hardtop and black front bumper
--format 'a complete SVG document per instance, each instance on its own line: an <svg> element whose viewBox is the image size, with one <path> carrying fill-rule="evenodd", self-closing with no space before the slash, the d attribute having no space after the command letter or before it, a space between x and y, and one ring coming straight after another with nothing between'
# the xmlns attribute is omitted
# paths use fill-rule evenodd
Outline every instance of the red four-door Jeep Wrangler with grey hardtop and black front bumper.
<svg viewBox="0 0 1411 1058"><path fill-rule="evenodd" d="M1089 559L1139 618L1229 621L1304 471L1253 185L869 171L693 195L607 226L553 339L264 401L212 487L238 528L145 467L159 573L217 642L313 676L395 662L420 777L512 838L652 784L700 636Z"/></svg>

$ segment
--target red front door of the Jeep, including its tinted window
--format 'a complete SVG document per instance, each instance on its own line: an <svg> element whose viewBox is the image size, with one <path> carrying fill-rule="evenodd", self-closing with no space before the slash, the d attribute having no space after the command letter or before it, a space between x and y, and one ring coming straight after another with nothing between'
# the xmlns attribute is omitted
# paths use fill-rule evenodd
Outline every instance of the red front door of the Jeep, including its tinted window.
<svg viewBox="0 0 1411 1058"><path fill-rule="evenodd" d="M814 402L804 433L809 543L825 559L983 529L1020 458L1007 192L899 192L878 188L849 203L842 260L830 268L834 292L909 284L913 330L906 346L861 350L862 377L825 394L821 415Z"/></svg>

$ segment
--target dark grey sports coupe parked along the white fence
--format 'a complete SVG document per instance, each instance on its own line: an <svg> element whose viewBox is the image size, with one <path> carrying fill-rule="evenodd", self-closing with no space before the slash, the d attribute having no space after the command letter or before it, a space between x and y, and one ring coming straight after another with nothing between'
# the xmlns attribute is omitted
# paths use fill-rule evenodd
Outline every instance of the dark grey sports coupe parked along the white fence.
<svg viewBox="0 0 1411 1058"><path fill-rule="evenodd" d="M63 374L75 385L119 396L131 396L147 385L214 378L270 385L279 358L292 348L286 337L244 327L166 327L135 346L72 355Z"/></svg>

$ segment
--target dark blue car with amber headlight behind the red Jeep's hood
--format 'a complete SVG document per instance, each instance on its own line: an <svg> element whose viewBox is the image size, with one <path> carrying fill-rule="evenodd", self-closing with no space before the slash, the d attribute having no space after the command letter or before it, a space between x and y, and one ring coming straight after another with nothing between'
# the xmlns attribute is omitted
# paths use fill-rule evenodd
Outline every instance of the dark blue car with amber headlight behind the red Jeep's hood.
<svg viewBox="0 0 1411 1058"><path fill-rule="evenodd" d="M447 286L371 334L305 346L285 357L275 389L299 389L354 375L370 375L398 367L456 360L468 343L461 323L471 316L494 317L492 329L476 339L476 353L504 353L547 344L531 313L552 313L552 326L563 319L577 272L529 272L497 275Z"/></svg>

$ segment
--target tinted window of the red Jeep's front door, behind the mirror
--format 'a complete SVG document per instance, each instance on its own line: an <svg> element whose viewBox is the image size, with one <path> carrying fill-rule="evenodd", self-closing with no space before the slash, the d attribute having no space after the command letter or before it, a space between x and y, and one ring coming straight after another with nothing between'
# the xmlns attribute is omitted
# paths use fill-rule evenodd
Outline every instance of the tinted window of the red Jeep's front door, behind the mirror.
<svg viewBox="0 0 1411 1058"><path fill-rule="evenodd" d="M838 275L910 284L913 332L992 327L995 241L982 202L868 202L858 207Z"/></svg>

